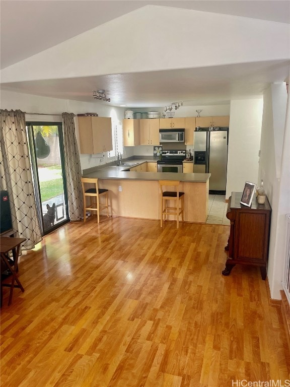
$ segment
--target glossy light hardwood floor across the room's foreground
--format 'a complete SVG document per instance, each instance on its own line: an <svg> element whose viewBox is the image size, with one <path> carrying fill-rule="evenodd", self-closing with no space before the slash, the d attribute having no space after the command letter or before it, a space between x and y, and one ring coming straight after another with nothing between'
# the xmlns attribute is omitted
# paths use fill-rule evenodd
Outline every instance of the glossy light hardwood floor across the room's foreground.
<svg viewBox="0 0 290 387"><path fill-rule="evenodd" d="M96 217L19 260L1 309L4 387L230 387L288 379L279 307L225 267L229 226Z"/></svg>

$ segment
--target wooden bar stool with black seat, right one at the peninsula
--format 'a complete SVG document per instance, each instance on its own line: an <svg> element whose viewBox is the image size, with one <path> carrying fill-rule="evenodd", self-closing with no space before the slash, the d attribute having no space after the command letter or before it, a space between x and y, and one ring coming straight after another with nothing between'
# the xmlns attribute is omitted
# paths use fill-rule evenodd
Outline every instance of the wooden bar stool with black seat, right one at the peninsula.
<svg viewBox="0 0 290 387"><path fill-rule="evenodd" d="M177 187L176 191L166 191L164 186L174 186ZM175 215L176 216L176 228L179 228L179 216L181 214L182 222L184 222L183 213L184 213L184 192L179 191L179 181L172 180L159 180L160 188L160 226L163 226L163 217L166 215ZM169 207L167 205L168 200L174 200L176 202L174 207Z"/></svg>

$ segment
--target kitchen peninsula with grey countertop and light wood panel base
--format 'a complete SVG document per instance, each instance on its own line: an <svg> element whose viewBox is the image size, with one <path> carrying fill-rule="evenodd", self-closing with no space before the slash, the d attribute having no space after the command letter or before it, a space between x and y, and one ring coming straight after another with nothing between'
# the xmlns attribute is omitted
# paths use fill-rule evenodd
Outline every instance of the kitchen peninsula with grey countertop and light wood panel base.
<svg viewBox="0 0 290 387"><path fill-rule="evenodd" d="M128 169L128 166L108 166L83 173L84 177L98 178L99 188L109 189L111 215L159 219L159 180L178 180L179 190L185 193L185 222L206 222L210 173L133 172Z"/></svg>

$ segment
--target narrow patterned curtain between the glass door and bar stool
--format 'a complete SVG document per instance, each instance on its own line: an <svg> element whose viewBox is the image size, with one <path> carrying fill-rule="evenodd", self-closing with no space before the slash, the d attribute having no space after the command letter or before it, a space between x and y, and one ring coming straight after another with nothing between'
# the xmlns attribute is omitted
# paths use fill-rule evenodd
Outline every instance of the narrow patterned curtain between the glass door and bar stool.
<svg viewBox="0 0 290 387"><path fill-rule="evenodd" d="M71 221L80 220L83 215L82 169L75 132L75 114L62 113L64 168Z"/></svg>

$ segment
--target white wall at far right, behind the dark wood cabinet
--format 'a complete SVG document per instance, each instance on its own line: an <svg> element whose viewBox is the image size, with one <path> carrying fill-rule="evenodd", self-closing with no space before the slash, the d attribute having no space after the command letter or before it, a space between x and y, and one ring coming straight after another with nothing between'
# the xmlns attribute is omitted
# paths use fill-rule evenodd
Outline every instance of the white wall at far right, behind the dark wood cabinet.
<svg viewBox="0 0 290 387"><path fill-rule="evenodd" d="M264 93L259 175L269 199L271 231L267 277L271 298L280 299L286 238L285 214L290 213L289 98L284 83Z"/></svg>

